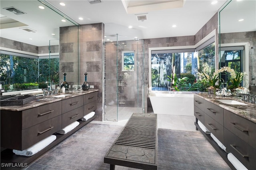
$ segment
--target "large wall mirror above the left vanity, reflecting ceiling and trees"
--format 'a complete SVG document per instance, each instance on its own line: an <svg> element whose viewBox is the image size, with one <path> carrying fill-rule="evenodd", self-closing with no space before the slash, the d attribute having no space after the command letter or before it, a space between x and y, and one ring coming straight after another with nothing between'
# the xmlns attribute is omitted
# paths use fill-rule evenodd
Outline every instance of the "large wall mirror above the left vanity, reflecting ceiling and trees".
<svg viewBox="0 0 256 170"><path fill-rule="evenodd" d="M1 0L0 6L1 61L7 59L1 62L4 91L21 88L14 84L59 84L59 28L78 24L44 0Z"/></svg>

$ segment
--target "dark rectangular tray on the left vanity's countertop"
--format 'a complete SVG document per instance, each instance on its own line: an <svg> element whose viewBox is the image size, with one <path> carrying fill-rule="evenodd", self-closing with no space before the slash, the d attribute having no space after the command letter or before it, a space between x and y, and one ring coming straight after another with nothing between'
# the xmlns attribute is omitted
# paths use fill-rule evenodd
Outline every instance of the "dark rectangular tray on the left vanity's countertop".
<svg viewBox="0 0 256 170"><path fill-rule="evenodd" d="M12 98L1 100L0 105L1 106L24 105L29 102L32 102L33 100L36 100L36 96L31 96L31 95L15 96Z"/></svg>

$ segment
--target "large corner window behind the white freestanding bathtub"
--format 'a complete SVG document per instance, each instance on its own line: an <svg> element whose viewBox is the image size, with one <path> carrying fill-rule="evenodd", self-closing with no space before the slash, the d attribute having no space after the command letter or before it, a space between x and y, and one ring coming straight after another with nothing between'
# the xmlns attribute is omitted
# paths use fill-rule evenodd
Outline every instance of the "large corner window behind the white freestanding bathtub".
<svg viewBox="0 0 256 170"><path fill-rule="evenodd" d="M204 87L192 87L196 82L196 74L214 71L215 62L215 43L198 52L195 52L195 49L152 50L151 90L167 91L176 76L176 80L187 77L186 84L191 85L180 86L178 90L204 91Z"/></svg>

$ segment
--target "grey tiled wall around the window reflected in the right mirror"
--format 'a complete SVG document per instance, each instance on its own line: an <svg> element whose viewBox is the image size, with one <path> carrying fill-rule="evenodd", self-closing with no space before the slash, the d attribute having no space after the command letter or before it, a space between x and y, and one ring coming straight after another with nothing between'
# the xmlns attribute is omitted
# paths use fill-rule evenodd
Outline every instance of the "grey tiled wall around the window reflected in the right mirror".
<svg viewBox="0 0 256 170"><path fill-rule="evenodd" d="M249 84L256 84L256 31L221 33L220 43L249 43ZM252 78L254 80L252 81Z"/></svg>

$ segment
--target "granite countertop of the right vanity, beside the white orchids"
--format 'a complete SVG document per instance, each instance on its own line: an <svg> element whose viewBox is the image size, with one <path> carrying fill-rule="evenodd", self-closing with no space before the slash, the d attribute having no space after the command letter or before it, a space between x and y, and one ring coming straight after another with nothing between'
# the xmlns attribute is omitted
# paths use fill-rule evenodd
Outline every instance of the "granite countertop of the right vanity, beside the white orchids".
<svg viewBox="0 0 256 170"><path fill-rule="evenodd" d="M244 117L245 119L248 119L254 123L256 123L256 104L244 102L242 99L238 97L225 97L225 96L217 96L215 94L208 94L205 92L200 92L198 94L194 94L200 98L203 98L204 100L207 100L208 102L211 102L213 104L216 104L217 106L222 107L223 109L226 109L228 111L233 112L236 115L239 115L241 117ZM232 104L224 104L216 99L225 99L225 100L236 100L238 102L242 102L247 105L232 105Z"/></svg>

